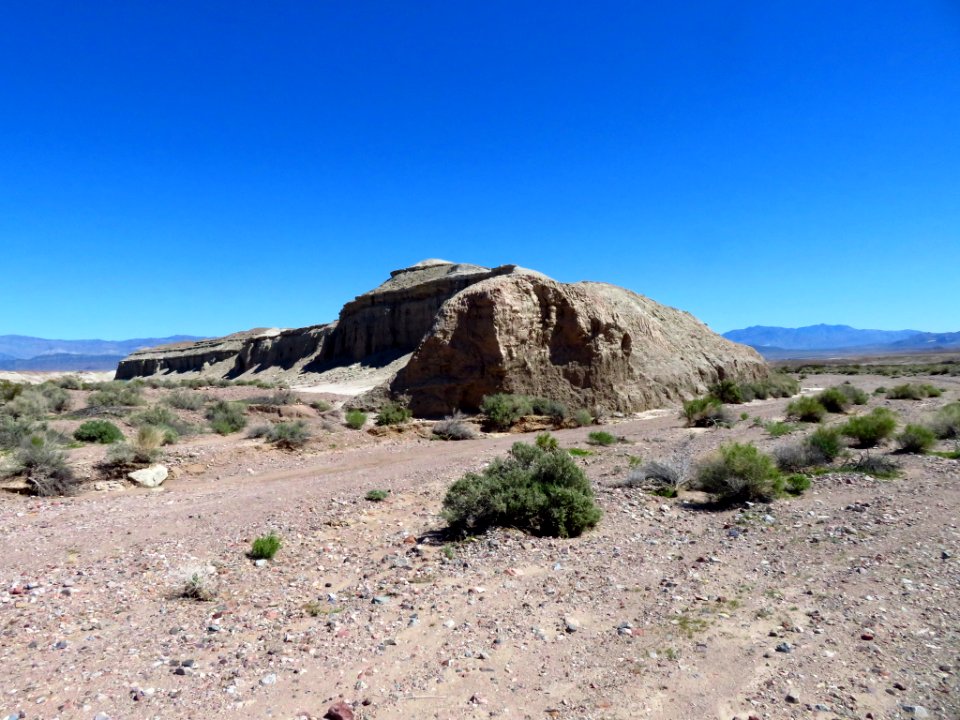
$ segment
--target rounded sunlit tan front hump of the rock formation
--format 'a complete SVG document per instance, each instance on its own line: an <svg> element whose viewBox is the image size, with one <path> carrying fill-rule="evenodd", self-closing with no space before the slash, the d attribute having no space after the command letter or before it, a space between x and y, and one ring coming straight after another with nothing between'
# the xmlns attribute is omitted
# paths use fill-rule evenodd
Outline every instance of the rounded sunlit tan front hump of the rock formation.
<svg viewBox="0 0 960 720"><path fill-rule="evenodd" d="M571 407L634 411L767 373L751 348L692 315L603 283L514 272L440 309L391 389L419 415L476 409L484 395L540 395Z"/></svg>

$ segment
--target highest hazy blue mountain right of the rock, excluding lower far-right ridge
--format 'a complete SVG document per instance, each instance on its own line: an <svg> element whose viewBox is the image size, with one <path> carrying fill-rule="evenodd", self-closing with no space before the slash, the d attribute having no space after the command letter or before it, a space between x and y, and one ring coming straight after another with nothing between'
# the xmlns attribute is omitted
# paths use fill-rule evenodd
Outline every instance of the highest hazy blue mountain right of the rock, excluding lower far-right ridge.
<svg viewBox="0 0 960 720"><path fill-rule="evenodd" d="M849 325L809 325L782 328L755 325L723 334L728 340L757 349L836 350L868 345L888 345L921 335L919 330L858 330Z"/></svg>

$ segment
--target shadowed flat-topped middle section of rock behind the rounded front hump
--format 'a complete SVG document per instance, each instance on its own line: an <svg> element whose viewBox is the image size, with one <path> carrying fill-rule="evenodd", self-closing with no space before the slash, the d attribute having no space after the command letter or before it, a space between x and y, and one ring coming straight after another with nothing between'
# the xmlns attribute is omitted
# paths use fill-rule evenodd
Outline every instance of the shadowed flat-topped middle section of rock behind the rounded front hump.
<svg viewBox="0 0 960 720"><path fill-rule="evenodd" d="M447 300L470 285L518 270L516 265L490 269L446 260L394 270L385 283L343 306L321 357L353 363L413 352Z"/></svg>

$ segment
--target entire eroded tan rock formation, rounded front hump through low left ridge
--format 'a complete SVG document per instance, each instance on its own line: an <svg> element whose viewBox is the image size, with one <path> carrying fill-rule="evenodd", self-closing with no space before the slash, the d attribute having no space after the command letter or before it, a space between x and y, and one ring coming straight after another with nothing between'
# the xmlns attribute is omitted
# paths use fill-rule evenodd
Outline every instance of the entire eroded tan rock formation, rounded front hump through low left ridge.
<svg viewBox="0 0 960 720"><path fill-rule="evenodd" d="M767 373L751 348L623 288L427 260L347 303L335 323L152 348L121 362L117 377L266 373L310 385L344 367L388 368L371 397L406 397L422 416L474 410L495 392L629 412Z"/></svg>

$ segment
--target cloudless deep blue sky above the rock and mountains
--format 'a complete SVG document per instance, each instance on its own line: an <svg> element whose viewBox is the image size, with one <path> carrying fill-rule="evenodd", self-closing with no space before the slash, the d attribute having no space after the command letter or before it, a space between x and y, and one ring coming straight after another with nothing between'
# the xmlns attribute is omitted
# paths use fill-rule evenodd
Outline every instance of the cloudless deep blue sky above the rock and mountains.
<svg viewBox="0 0 960 720"><path fill-rule="evenodd" d="M960 2L0 9L0 334L315 324L427 257L960 330Z"/></svg>

